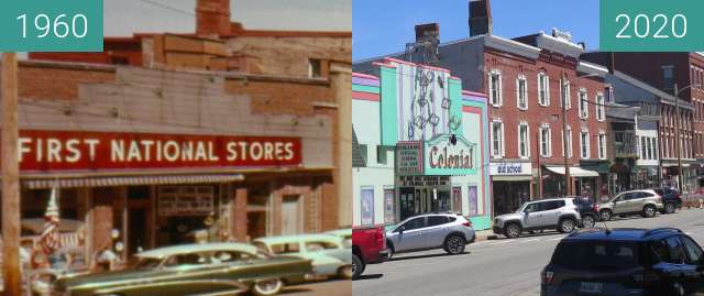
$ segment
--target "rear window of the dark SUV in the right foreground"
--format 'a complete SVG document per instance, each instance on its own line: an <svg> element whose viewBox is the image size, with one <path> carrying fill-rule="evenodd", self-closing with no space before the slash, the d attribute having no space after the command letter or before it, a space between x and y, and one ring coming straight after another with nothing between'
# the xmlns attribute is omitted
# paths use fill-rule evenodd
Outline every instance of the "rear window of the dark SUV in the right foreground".
<svg viewBox="0 0 704 296"><path fill-rule="evenodd" d="M618 271L640 265L639 246L635 242L579 241L561 242L551 263L582 271Z"/></svg>

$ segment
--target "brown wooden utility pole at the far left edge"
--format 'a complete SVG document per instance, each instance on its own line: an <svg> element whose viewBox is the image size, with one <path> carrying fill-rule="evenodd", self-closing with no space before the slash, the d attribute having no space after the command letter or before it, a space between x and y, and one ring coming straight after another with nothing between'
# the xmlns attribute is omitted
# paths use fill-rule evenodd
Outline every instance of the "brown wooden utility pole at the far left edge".
<svg viewBox="0 0 704 296"><path fill-rule="evenodd" d="M4 294L20 296L20 168L18 163L18 62L2 55L2 271Z"/></svg>

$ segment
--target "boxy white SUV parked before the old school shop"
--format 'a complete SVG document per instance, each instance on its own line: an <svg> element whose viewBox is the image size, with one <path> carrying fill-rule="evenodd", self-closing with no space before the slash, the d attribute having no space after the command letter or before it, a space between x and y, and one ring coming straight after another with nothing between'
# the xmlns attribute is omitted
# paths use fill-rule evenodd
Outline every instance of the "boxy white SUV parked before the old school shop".
<svg viewBox="0 0 704 296"><path fill-rule="evenodd" d="M507 238L520 237L522 231L557 229L571 232L582 218L574 198L554 198L525 202L514 213L494 218L494 233Z"/></svg>

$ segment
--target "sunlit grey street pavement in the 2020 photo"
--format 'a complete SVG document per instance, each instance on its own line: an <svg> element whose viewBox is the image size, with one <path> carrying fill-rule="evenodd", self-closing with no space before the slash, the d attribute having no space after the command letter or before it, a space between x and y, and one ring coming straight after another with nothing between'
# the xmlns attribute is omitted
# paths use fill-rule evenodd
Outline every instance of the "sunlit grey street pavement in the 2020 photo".
<svg viewBox="0 0 704 296"><path fill-rule="evenodd" d="M701 209L650 219L616 218L607 226L674 227L704 245L704 210ZM600 222L598 227L603 224ZM455 256L442 250L397 254L392 261L366 266L362 278L352 282L352 290L355 296L540 295L540 271L564 235L557 231L515 240L502 235L471 244L465 254Z"/></svg>

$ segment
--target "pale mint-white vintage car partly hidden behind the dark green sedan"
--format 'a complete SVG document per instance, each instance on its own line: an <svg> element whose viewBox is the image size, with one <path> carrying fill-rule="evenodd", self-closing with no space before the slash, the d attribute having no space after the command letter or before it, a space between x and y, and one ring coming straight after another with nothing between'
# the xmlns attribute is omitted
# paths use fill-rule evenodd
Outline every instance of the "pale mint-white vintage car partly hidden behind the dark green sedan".
<svg viewBox="0 0 704 296"><path fill-rule="evenodd" d="M352 278L352 249L341 238L330 234L300 234L261 238L252 244L272 254L292 255L312 261L318 276Z"/></svg>

